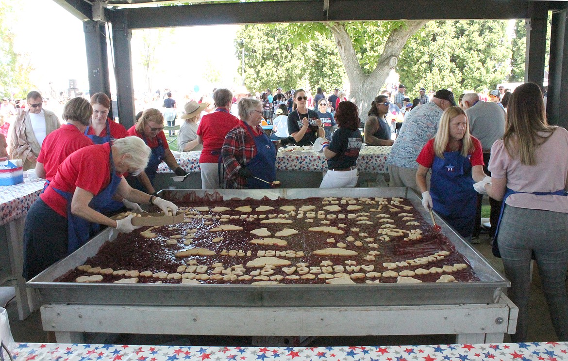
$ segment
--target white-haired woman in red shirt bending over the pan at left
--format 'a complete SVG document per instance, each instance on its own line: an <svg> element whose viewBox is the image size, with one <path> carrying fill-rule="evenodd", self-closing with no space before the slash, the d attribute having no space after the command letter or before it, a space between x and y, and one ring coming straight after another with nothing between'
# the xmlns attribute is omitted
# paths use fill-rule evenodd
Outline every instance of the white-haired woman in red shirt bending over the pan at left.
<svg viewBox="0 0 568 361"><path fill-rule="evenodd" d="M132 215L114 220L99 211L115 193L175 214L174 203L131 188L123 177L126 172L143 172L149 156L150 148L137 137L116 139L112 146L83 147L69 155L26 216L24 278L33 278L77 250L98 232L99 224L123 233L135 230Z"/></svg>

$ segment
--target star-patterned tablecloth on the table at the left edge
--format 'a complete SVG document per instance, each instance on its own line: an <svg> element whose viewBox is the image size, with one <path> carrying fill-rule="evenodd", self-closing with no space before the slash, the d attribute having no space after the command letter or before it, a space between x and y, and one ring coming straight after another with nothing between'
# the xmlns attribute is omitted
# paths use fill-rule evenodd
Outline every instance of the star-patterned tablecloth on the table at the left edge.
<svg viewBox="0 0 568 361"><path fill-rule="evenodd" d="M44 182L26 179L20 184L0 186L0 226L26 216L32 203L39 197Z"/></svg>

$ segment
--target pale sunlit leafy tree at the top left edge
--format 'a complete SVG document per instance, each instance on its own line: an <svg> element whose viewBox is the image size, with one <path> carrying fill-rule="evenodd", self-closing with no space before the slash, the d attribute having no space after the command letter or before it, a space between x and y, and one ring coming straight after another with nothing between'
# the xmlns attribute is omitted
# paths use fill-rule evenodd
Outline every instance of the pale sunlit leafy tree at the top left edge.
<svg viewBox="0 0 568 361"><path fill-rule="evenodd" d="M11 31L11 23L18 19L18 12L14 3L0 0L0 91L2 96L10 98L26 97L33 85L29 77L33 70L30 57L14 50L15 34Z"/></svg>

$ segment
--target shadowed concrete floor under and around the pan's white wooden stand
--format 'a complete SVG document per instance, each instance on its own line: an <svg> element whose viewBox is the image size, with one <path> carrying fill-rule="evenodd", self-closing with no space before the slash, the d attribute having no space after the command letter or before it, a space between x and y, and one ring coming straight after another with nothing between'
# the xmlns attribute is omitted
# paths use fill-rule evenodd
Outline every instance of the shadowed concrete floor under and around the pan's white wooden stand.
<svg viewBox="0 0 568 361"><path fill-rule="evenodd" d="M489 237L481 235L481 243L475 245L490 263L503 273L503 266L499 258L491 254ZM15 302L12 300L6 307L10 320L10 328L16 342L53 342L48 341L48 333L41 326L40 312L34 312L24 321L18 320ZM548 306L541 290L540 278L537 268L534 267L533 284L531 287L531 328L529 328L528 341L552 342L558 341L552 328L552 322L548 313ZM191 336L191 335L133 335L112 334L105 338L99 338L97 343L115 343L131 345L194 345L194 346L250 346L258 345L250 337L227 337L227 336ZM280 339L283 342L298 343L298 339ZM509 342L508 335L505 342ZM266 341L264 341L266 342ZM438 345L454 343L454 335L414 335L414 336L365 336L365 337L319 337L304 341L310 346L361 346L361 345ZM261 341L262 343L262 341ZM272 343L272 342L271 342ZM265 346L265 345L262 345ZM266 345L278 346L278 345Z"/></svg>

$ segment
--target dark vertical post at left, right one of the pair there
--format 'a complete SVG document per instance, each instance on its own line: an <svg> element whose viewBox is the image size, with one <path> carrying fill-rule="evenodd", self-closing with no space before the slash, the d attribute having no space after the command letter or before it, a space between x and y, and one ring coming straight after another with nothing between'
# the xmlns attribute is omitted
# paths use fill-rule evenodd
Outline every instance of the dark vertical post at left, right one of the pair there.
<svg viewBox="0 0 568 361"><path fill-rule="evenodd" d="M116 94L120 124L128 129L134 125L134 86L132 83L132 31L128 29L126 14L112 12L112 50L116 78Z"/></svg>

